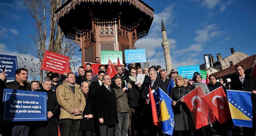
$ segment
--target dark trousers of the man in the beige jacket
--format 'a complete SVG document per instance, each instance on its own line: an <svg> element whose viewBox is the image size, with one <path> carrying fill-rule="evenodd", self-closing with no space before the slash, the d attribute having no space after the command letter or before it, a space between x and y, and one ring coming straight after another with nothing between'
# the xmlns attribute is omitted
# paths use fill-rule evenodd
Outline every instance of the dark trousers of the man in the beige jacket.
<svg viewBox="0 0 256 136"><path fill-rule="evenodd" d="M60 135L61 136L77 136L80 126L80 119L61 119L60 120Z"/></svg>

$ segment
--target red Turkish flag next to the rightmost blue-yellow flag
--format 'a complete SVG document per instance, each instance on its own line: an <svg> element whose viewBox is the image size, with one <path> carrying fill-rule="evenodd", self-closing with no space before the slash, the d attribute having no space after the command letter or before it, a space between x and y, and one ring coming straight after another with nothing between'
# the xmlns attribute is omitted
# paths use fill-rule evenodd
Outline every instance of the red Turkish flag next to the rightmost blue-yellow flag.
<svg viewBox="0 0 256 136"><path fill-rule="evenodd" d="M215 115L220 124L231 119L228 99L222 87L208 93L202 99L210 106L212 113Z"/></svg>

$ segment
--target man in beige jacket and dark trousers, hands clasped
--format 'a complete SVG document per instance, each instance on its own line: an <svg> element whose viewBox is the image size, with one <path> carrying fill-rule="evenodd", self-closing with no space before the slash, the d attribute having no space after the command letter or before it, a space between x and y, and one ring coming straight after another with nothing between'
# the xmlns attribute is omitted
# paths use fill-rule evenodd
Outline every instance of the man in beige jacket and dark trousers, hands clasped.
<svg viewBox="0 0 256 136"><path fill-rule="evenodd" d="M80 85L75 84L74 73L69 73L66 80L67 82L56 90L57 101L60 104L60 134L77 136L86 101Z"/></svg>

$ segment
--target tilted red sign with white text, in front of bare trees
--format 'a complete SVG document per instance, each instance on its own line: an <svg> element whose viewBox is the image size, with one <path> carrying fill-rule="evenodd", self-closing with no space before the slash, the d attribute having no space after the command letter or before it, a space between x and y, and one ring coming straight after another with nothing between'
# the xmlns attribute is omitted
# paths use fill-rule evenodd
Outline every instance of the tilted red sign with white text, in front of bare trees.
<svg viewBox="0 0 256 136"><path fill-rule="evenodd" d="M69 57L45 50L41 69L63 74L69 68Z"/></svg>

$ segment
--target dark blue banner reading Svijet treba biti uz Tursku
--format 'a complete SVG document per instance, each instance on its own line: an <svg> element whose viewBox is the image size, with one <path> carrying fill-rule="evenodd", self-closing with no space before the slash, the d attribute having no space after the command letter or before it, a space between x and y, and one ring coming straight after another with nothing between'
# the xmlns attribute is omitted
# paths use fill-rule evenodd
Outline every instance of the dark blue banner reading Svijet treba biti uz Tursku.
<svg viewBox="0 0 256 136"><path fill-rule="evenodd" d="M46 121L47 93L4 89L2 111L6 121Z"/></svg>

